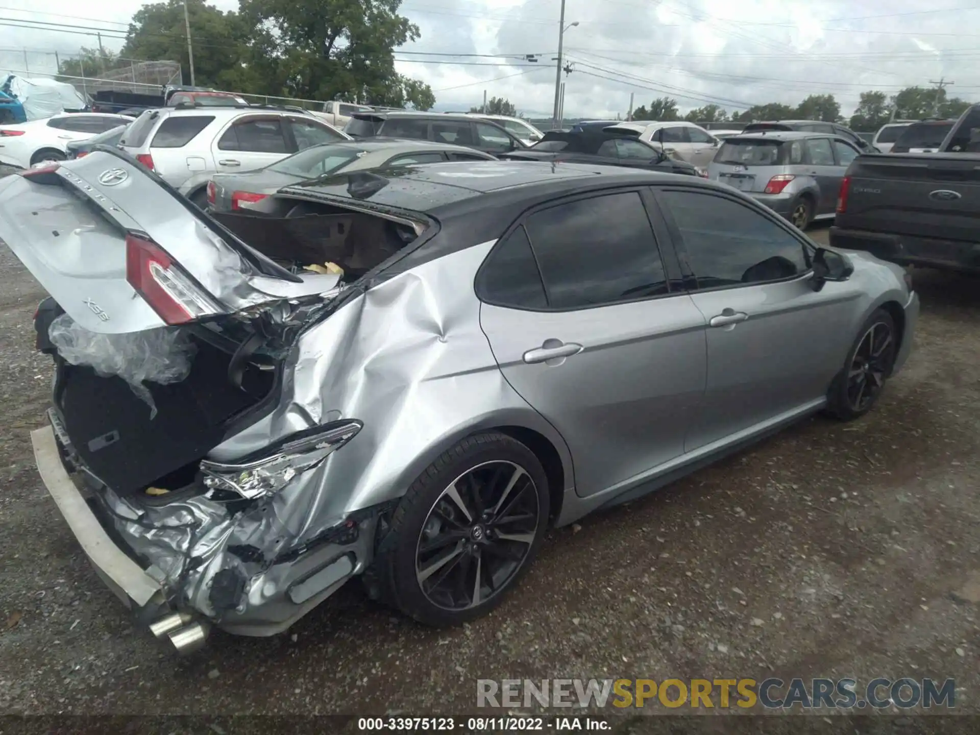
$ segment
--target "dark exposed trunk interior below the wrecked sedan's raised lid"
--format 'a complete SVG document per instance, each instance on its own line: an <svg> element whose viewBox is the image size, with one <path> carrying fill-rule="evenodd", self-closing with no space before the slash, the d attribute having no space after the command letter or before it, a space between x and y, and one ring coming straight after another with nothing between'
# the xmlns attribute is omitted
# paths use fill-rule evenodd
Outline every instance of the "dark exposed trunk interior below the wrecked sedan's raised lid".
<svg viewBox="0 0 980 735"><path fill-rule="evenodd" d="M186 380L145 383L157 416L120 377L57 360L55 404L81 461L120 494L147 486L176 490L194 481L198 462L221 443L229 422L270 396L276 369L245 363L241 387L229 379L232 355L198 336Z"/></svg>

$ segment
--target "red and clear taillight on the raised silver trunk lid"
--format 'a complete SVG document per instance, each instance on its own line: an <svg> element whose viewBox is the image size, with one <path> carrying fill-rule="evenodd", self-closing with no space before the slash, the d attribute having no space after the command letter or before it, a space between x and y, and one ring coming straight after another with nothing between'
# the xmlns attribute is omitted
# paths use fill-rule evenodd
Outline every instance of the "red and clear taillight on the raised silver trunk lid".
<svg viewBox="0 0 980 735"><path fill-rule="evenodd" d="M125 279L168 324L224 311L163 248L131 232L125 238Z"/></svg>

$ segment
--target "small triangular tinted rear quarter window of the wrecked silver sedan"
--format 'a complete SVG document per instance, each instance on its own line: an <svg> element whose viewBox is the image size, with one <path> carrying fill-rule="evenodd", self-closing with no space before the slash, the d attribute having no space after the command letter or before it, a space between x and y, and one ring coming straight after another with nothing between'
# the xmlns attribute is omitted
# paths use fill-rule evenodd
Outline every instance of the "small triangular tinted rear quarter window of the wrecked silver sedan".
<svg viewBox="0 0 980 735"><path fill-rule="evenodd" d="M476 275L476 293L483 301L514 309L548 306L541 273L523 227L517 227L493 249Z"/></svg>

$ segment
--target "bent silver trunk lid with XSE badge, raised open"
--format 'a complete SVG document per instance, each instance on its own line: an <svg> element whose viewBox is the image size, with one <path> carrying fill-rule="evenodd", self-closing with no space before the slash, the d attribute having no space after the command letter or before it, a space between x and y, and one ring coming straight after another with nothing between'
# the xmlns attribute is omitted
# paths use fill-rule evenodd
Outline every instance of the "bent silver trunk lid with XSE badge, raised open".
<svg viewBox="0 0 980 735"><path fill-rule="evenodd" d="M277 266L118 151L0 181L0 239L92 332L186 324L329 291Z"/></svg>

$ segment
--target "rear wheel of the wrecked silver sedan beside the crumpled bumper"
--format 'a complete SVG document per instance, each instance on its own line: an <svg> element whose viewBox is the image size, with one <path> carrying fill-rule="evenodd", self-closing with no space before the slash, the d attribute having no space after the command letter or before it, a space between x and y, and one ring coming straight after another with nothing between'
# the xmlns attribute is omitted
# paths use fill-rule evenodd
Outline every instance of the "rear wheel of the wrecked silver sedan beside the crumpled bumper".
<svg viewBox="0 0 980 735"><path fill-rule="evenodd" d="M548 514L533 452L505 434L468 437L399 503L374 558L379 596L433 627L489 613L534 561Z"/></svg>

